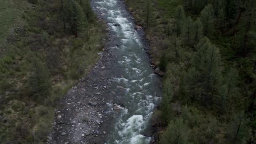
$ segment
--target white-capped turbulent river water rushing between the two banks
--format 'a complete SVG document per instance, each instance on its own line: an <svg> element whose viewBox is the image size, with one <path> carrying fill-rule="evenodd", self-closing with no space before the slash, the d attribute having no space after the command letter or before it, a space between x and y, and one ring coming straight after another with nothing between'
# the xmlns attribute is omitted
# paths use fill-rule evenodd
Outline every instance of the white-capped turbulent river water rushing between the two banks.
<svg viewBox="0 0 256 144"><path fill-rule="evenodd" d="M144 51L143 37L134 29L131 15L120 0L93 0L92 5L101 12L114 35L115 46L111 49L117 57L116 71L120 77L113 77L110 86L123 89L116 95L125 106L109 125L107 144L149 144L152 138L142 133L147 131L152 111L160 101L160 86Z"/></svg>

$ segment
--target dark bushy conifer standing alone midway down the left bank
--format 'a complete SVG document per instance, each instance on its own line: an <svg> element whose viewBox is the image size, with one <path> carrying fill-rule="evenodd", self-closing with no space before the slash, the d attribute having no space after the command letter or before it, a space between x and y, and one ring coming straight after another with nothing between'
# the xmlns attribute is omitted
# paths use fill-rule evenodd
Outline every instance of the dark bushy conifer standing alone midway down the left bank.
<svg viewBox="0 0 256 144"><path fill-rule="evenodd" d="M51 83L48 77L47 68L43 65L40 59L32 58L32 72L27 81L27 88L32 99L41 101L48 97L51 92Z"/></svg>

